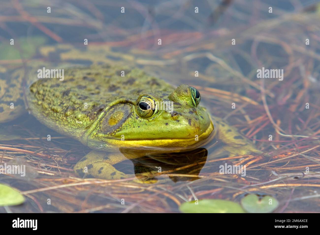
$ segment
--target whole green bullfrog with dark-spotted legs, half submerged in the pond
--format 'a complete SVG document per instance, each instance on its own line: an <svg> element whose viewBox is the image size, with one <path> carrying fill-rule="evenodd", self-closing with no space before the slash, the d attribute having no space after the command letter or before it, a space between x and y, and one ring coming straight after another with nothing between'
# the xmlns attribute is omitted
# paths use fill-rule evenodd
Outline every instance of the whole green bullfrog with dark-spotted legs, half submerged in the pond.
<svg viewBox="0 0 320 235"><path fill-rule="evenodd" d="M0 76L0 122L28 110L47 127L91 148L74 166L80 177L127 178L115 164L189 151L213 137L230 154L261 153L236 128L211 116L200 105L200 92L187 84L173 87L138 68L95 63L66 67L63 79L36 80L33 73L36 81L23 92L23 74Z"/></svg>

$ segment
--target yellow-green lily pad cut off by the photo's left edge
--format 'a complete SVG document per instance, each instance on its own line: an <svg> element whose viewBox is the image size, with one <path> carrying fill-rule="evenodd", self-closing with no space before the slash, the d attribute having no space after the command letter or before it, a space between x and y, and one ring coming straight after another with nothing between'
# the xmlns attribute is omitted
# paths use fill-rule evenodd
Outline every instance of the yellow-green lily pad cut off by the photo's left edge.
<svg viewBox="0 0 320 235"><path fill-rule="evenodd" d="M16 206L24 202L24 197L20 192L8 185L0 184L0 207Z"/></svg>

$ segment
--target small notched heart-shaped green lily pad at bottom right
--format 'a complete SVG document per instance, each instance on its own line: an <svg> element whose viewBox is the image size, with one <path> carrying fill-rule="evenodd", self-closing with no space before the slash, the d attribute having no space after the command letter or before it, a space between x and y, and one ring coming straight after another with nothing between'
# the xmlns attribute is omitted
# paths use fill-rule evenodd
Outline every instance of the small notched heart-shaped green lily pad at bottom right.
<svg viewBox="0 0 320 235"><path fill-rule="evenodd" d="M279 206L279 202L275 198L271 196L259 197L256 194L245 196L240 203L249 213L270 213Z"/></svg>

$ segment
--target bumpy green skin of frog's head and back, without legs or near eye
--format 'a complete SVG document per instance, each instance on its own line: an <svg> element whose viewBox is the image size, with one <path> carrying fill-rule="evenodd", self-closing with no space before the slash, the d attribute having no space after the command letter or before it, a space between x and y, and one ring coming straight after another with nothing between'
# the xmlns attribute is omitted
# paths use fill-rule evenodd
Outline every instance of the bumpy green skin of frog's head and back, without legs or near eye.
<svg viewBox="0 0 320 235"><path fill-rule="evenodd" d="M141 118L136 101L145 95L159 104L172 101L173 111L158 110ZM41 122L93 149L186 147L197 143L196 135L205 139L213 129L209 114L192 103L188 85L174 89L139 69L70 68L63 81L46 78L33 83L27 98Z"/></svg>

